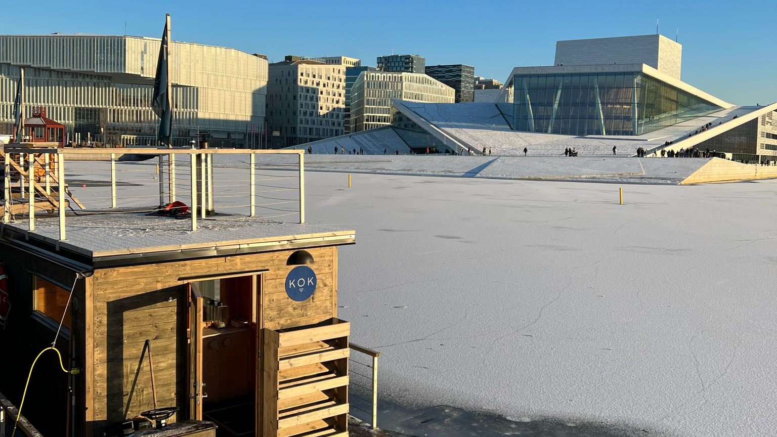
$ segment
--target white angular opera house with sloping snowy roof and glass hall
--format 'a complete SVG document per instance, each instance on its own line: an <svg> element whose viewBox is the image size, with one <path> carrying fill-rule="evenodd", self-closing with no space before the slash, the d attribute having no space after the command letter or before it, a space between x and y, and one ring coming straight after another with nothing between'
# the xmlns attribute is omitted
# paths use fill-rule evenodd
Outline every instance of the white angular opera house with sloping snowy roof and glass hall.
<svg viewBox="0 0 777 437"><path fill-rule="evenodd" d="M381 121L392 114L391 127L379 138L376 132L359 140L380 139L388 150L425 150L425 135L431 135L437 151L455 153L485 147L522 155L526 147L535 156L564 156L570 148L580 156L633 156L641 149L645 156L777 161L777 103L736 106L682 82L682 47L674 41L648 35L559 41L557 47L558 65L516 67L503 88L484 83L476 90L476 100L478 91L497 91L496 101L490 93L475 103L392 100L389 110L372 111Z"/></svg>

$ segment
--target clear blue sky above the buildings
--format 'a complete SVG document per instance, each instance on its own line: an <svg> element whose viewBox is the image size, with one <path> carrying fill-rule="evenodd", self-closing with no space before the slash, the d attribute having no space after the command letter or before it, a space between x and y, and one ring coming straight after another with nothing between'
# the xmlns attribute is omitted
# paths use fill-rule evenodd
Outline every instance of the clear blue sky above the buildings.
<svg viewBox="0 0 777 437"><path fill-rule="evenodd" d="M503 82L514 66L552 65L556 40L656 32L683 45L682 80L735 104L777 101L777 2L4 2L2 33L100 33L159 37L267 54L345 55L375 65L413 53L427 65L468 64ZM32 15L31 15L32 14ZM34 16L34 19L30 17ZM26 19L25 19L26 17Z"/></svg>

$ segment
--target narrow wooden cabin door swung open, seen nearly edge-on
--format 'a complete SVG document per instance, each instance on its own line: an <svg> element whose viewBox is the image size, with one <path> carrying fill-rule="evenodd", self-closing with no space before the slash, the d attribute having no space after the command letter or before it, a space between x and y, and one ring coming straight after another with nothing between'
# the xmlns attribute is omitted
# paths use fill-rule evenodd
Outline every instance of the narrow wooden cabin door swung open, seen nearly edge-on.
<svg viewBox="0 0 777 437"><path fill-rule="evenodd" d="M202 420L203 298L189 288L189 418Z"/></svg>

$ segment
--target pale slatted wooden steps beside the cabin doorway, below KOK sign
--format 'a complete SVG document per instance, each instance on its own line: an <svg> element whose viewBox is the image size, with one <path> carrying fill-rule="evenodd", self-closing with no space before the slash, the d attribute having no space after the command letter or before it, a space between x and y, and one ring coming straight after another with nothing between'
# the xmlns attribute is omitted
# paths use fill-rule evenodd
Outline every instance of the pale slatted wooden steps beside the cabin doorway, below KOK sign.
<svg viewBox="0 0 777 437"><path fill-rule="evenodd" d="M348 435L350 323L264 332L263 435Z"/></svg>

